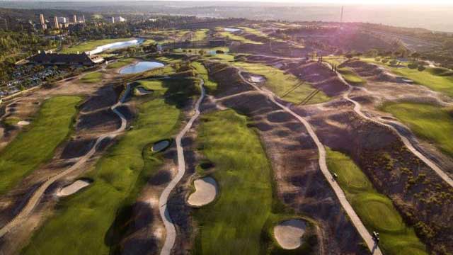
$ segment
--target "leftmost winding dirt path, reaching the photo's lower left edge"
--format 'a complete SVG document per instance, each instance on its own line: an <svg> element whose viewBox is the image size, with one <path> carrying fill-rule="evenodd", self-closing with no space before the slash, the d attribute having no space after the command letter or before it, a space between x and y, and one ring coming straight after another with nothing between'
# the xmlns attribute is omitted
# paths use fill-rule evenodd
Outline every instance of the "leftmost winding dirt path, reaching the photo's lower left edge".
<svg viewBox="0 0 453 255"><path fill-rule="evenodd" d="M28 217L28 215L30 215L30 212L33 211L35 206L39 203L40 199L42 198L42 194L45 193L47 188L49 188L49 186L52 185L52 183L54 183L58 179L61 179L64 176L66 176L67 174L70 174L72 171L78 169L79 166L85 164L86 161L88 159L90 159L91 156L93 156L93 154L96 153L96 148L106 137L113 138L125 130L126 125L127 125L127 120L126 120L125 116L122 115L122 113L120 113L120 111L117 111L117 107L122 105L122 103L125 101L127 94L129 94L129 93L130 93L130 86L129 86L129 84L127 84L127 89L126 89L125 93L122 95L122 97L120 98L120 101L118 101L117 103L115 103L115 105L110 107L112 109L112 111L114 113L116 113L116 115L118 115L118 117L121 118L120 128L118 128L117 130L110 132L108 134L102 135L101 137L98 137L98 139L96 140L96 143L93 145L93 147L91 147L90 151L87 152L84 156L80 157L79 160L76 162L76 164L72 165L71 167L69 167L69 169L62 171L61 173L50 177L50 179L47 179L47 181L42 183L42 185L35 191L35 193L33 193L33 196L30 197L30 199L28 200L25 207L21 210L21 212L19 212L18 215L16 215L16 217L13 218L13 220L11 220L6 225L4 225L4 227L1 227L0 237L3 237L4 234L8 233L11 229L13 229L13 227L16 227L18 224L20 224L22 222L23 219L25 219L26 217Z"/></svg>

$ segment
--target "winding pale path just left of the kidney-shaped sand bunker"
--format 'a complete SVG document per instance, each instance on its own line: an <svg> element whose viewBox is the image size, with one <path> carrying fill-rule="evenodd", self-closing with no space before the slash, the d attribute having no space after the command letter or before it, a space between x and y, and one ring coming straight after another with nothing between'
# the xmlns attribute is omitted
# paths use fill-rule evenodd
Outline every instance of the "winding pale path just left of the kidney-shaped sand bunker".
<svg viewBox="0 0 453 255"><path fill-rule="evenodd" d="M159 198L159 211L161 212L162 221L164 221L165 229L166 229L166 239L164 242L164 246L161 249L161 255L168 255L171 253L171 249L175 244L176 240L176 229L175 225L173 224L173 220L171 220L170 213L168 212L167 202L168 196L170 196L171 191L179 181L183 178L185 174L185 160L184 160L184 151L183 147L181 146L181 139L185 135L188 130L192 127L193 122L195 119L198 118L200 115L200 104L203 98L205 97L205 81L202 79L200 80L201 86L201 96L198 98L197 103L195 103L195 114L190 118L189 122L185 125L184 129L181 130L178 135L176 136L176 149L178 151L178 174L176 174L175 178L173 178L168 186L162 191L161 197Z"/></svg>

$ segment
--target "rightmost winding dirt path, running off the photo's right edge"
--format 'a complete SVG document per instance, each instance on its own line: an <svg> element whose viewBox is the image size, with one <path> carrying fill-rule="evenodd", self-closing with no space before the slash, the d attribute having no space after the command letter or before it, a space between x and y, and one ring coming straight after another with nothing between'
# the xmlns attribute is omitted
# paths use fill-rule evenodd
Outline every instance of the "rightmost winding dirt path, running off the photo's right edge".
<svg viewBox="0 0 453 255"><path fill-rule="evenodd" d="M331 68L331 65L326 63L326 65L328 65L329 68ZM405 137L404 135L401 135L400 132L398 132L398 130L396 128L394 128L392 125L389 125L389 124L386 124L386 123L382 123L380 122L379 120L374 120L373 118L370 118L368 117L367 115L365 115L365 113L362 112L362 105L360 105L360 103L358 103L357 101L354 101L352 100L349 95L350 93L352 92L352 89L354 88L352 85L350 85L348 83L348 81L346 81L343 76L340 74L340 73L337 73L337 76L338 76L338 79L340 79L341 81L343 81L346 85L349 86L349 89L348 91L343 94L343 98L345 98L345 100L347 101L350 101L351 103L354 104L354 111L355 113L357 113L358 115L360 115L360 117L362 118L365 118L366 120L369 120L369 121L372 121L373 123L376 123L378 125L382 125L384 126L385 128L388 128L389 130L391 130L392 132L394 132L396 135L398 135L398 137L401 139L401 142L403 142L403 144L409 149L409 151L411 151L416 157L418 157L418 159L420 159L421 161L423 161L426 165L428 165L432 170L435 171L435 173L440 176L440 178L442 178L442 180L444 180L446 183L448 183L449 186L453 187L453 179L451 179L447 174L445 174L444 171L442 171L442 169L440 169L439 166L437 166L437 164L435 164L434 162L432 162L430 159L428 159L427 157L425 157L423 154L421 154L417 149L415 149L415 147L413 147L411 141L408 140L407 137Z"/></svg>

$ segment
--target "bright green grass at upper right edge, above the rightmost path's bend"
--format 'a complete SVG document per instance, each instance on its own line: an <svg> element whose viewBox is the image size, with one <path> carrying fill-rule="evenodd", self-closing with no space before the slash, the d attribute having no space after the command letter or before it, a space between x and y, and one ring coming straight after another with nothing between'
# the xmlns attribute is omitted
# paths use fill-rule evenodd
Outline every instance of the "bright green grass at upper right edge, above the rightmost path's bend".
<svg viewBox="0 0 453 255"><path fill-rule="evenodd" d="M389 62L382 63L370 58L362 58L366 62L382 65L396 75L413 80L416 84L427 86L428 88L439 91L447 96L453 97L453 76L449 70L428 67L420 72L418 69L410 69L407 64L402 64L402 68L391 67Z"/></svg>

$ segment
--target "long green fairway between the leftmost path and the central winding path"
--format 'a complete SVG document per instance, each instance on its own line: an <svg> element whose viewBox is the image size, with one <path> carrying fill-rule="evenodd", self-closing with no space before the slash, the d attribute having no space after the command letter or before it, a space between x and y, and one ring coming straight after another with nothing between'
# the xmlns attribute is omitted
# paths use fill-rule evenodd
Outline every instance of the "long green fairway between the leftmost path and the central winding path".
<svg viewBox="0 0 453 255"><path fill-rule="evenodd" d="M93 184L63 198L23 254L109 254L115 250L127 223L125 208L130 208L146 180L163 163L159 154L149 153L150 147L173 135L179 118L180 111L161 97L140 104L134 129L89 172Z"/></svg>

